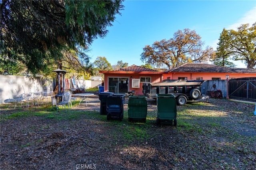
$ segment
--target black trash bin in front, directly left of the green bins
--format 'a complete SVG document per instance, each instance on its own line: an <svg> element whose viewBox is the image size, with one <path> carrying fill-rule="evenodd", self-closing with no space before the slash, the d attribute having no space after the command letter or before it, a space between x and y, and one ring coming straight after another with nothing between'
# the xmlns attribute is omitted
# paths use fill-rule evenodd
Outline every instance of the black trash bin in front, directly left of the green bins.
<svg viewBox="0 0 256 170"><path fill-rule="evenodd" d="M106 101L107 120L118 119L120 121L124 118L124 97L125 95L108 95Z"/></svg>

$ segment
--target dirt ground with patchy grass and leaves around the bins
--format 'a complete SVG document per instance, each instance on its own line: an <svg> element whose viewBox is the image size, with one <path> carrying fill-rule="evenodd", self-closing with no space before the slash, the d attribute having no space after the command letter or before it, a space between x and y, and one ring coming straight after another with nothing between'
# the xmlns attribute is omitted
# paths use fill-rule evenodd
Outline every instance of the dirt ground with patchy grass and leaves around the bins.
<svg viewBox="0 0 256 170"><path fill-rule="evenodd" d="M188 103L177 107L173 127L156 125L154 100L148 99L146 123L127 121L128 98L122 122L100 115L97 95L89 101L58 113L1 105L0 169L256 169L253 104Z"/></svg>

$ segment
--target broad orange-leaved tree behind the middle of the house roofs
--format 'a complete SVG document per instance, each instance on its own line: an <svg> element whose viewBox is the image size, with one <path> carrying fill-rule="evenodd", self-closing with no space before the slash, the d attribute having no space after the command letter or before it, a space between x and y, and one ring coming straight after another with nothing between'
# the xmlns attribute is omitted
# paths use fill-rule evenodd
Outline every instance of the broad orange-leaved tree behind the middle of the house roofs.
<svg viewBox="0 0 256 170"><path fill-rule="evenodd" d="M214 56L212 47L202 49L204 43L194 30L178 30L170 40L146 45L140 60L156 67L176 67L187 62L205 62Z"/></svg>

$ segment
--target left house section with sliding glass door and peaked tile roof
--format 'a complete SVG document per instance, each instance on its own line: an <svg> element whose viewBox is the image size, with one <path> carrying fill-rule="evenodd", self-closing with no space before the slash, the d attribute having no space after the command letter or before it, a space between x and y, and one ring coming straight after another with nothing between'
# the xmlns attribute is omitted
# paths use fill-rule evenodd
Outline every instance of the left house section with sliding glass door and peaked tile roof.
<svg viewBox="0 0 256 170"><path fill-rule="evenodd" d="M120 94L134 91L134 95L143 95L143 83L162 82L162 75L166 72L131 65L114 71L100 71L100 73L104 73L105 92Z"/></svg>

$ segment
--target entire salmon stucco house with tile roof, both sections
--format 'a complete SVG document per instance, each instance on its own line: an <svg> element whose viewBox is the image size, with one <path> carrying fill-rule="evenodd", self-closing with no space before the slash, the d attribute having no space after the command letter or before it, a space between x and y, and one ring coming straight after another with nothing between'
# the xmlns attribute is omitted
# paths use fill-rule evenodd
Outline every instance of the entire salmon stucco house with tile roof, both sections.
<svg viewBox="0 0 256 170"><path fill-rule="evenodd" d="M160 83L163 80L225 80L242 77L256 77L256 69L232 68L205 63L185 63L166 71L156 71L131 65L114 71L100 71L104 74L104 91L143 95L143 83Z"/></svg>

